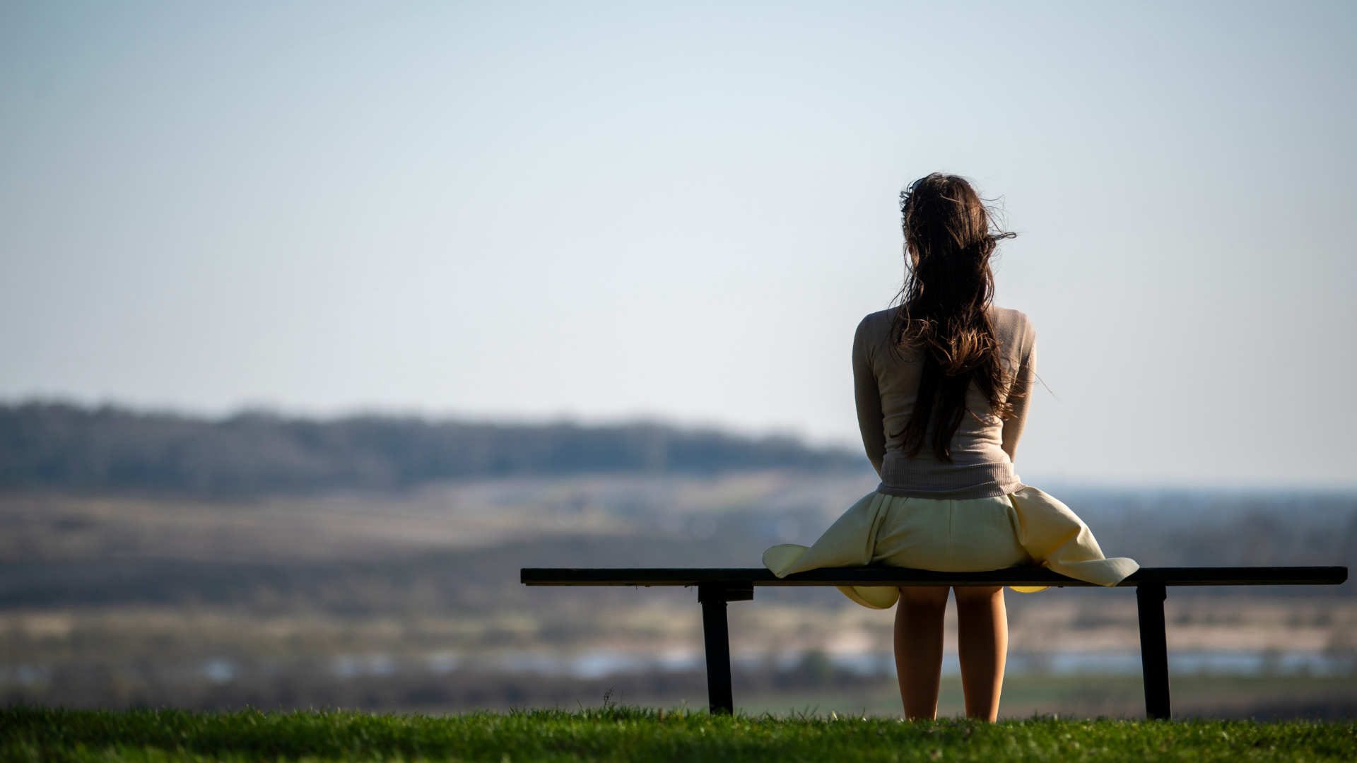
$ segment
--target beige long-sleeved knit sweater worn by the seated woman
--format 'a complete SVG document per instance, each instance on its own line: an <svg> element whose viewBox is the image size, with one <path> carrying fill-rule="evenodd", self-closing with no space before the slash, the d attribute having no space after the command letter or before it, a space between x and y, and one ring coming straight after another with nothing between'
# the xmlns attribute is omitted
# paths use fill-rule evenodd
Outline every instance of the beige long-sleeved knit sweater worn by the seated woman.
<svg viewBox="0 0 1357 763"><path fill-rule="evenodd" d="M1004 372L1011 379L1004 394L1012 395L1014 415L1007 421L995 415L989 401L972 383L966 391L968 413L951 439L953 463L947 463L927 447L913 458L905 453L904 432L919 396L923 356L917 349L890 346L894 315L894 310L883 310L863 318L852 346L858 426L867 458L881 475L877 490L940 500L989 498L1022 490L1012 460L1037 375L1033 352L1037 333L1031 322L1016 310L989 308Z"/></svg>

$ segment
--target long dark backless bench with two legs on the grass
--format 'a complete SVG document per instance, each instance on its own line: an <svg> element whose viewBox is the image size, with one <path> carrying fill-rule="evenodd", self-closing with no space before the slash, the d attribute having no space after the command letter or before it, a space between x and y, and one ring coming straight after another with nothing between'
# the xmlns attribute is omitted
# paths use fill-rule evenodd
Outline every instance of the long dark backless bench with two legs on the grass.
<svg viewBox="0 0 1357 763"><path fill-rule="evenodd" d="M730 690L729 601L749 601L756 585L1050 585L1094 587L1042 567L980 573L939 573L902 567L818 569L778 578L763 567L605 569L524 567L524 585L683 585L697 588L707 653L707 699L711 713L733 713ZM1140 615L1140 661L1145 680L1145 717L1168 720L1168 644L1164 599L1170 585L1338 585L1348 567L1141 567L1118 587L1136 588Z"/></svg>

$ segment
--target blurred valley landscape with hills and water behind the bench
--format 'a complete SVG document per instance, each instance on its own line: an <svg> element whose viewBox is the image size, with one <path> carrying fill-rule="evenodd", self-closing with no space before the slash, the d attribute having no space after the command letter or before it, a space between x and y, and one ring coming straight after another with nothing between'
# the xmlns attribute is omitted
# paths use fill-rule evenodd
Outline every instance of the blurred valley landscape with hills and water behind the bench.
<svg viewBox="0 0 1357 763"><path fill-rule="evenodd" d="M0 406L0 696L700 707L696 592L529 589L518 569L757 566L875 483L858 453L655 424ZM1041 487L1145 566L1357 566L1353 491ZM1130 589L1007 600L1001 714L1143 713ZM1167 616L1175 713L1357 717L1350 581L1171 589ZM759 589L730 619L742 709L898 713L893 612ZM951 653L944 672L958 713Z"/></svg>

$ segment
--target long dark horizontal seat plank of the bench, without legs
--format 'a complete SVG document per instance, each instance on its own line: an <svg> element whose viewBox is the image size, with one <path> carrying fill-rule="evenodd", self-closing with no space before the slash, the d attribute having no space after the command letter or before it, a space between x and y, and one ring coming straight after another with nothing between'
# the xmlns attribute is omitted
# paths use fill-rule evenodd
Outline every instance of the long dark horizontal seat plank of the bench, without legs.
<svg viewBox="0 0 1357 763"><path fill-rule="evenodd" d="M778 578L764 567L524 567L524 585L1054 585L1092 587L1041 567L939 573L904 567L820 569ZM1118 585L1338 585L1348 567L1141 567Z"/></svg>

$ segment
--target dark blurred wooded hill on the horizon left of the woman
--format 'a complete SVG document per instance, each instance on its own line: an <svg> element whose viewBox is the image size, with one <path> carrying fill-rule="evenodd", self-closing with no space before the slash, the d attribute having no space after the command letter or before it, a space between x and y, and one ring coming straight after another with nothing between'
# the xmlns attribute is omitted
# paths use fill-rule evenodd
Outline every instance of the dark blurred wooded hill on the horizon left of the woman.
<svg viewBox="0 0 1357 763"><path fill-rule="evenodd" d="M867 460L790 437L658 424L579 426L354 415L224 420L68 403L0 405L0 486L270 493L402 489L468 477L848 471Z"/></svg>

